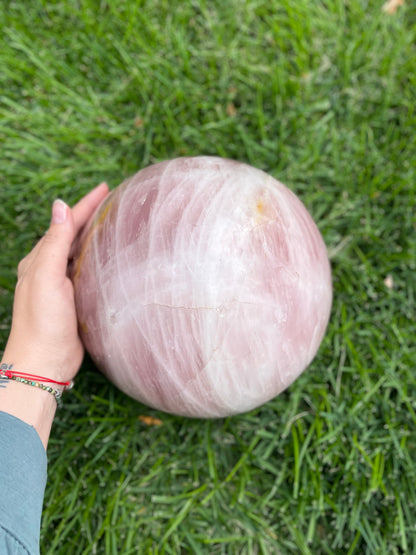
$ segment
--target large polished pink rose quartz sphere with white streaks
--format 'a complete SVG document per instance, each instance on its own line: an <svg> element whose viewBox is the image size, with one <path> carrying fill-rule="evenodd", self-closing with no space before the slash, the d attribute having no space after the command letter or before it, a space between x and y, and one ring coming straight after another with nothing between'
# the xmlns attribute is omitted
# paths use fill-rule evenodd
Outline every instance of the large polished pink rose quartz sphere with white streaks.
<svg viewBox="0 0 416 555"><path fill-rule="evenodd" d="M314 358L331 309L301 201L246 164L150 166L117 187L71 266L82 340L127 395L191 417L248 411Z"/></svg>

